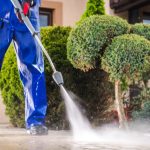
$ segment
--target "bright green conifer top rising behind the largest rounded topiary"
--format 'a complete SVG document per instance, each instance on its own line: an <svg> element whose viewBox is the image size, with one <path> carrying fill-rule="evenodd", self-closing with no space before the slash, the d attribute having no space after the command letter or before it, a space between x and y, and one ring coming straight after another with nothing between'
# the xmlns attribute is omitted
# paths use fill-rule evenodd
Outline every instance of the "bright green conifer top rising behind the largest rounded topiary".
<svg viewBox="0 0 150 150"><path fill-rule="evenodd" d="M86 17L90 17L92 15L105 15L104 5L104 0L88 0L86 10L81 19L85 19Z"/></svg>

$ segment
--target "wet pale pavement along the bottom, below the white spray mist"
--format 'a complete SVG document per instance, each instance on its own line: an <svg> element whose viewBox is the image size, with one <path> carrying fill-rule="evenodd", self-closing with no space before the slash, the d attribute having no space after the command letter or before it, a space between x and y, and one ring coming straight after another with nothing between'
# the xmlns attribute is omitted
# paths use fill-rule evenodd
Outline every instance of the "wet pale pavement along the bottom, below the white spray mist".
<svg viewBox="0 0 150 150"><path fill-rule="evenodd" d="M25 129L0 125L0 150L150 150L150 144L122 144L119 137L118 143L111 144L75 142L69 131L50 130L48 136L30 136Z"/></svg>

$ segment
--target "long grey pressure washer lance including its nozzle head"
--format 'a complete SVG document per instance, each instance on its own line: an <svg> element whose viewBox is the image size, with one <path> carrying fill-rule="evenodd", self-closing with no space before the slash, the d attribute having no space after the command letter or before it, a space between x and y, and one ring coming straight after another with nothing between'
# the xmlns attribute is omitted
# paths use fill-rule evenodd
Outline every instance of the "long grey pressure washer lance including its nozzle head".
<svg viewBox="0 0 150 150"><path fill-rule="evenodd" d="M14 8L15 8L15 11L17 13L20 13L21 15L21 18L22 18L22 21L24 22L24 24L27 26L28 30L30 31L30 33L32 34L33 38L36 39L36 41L38 42L39 46L41 47L42 51L44 52L45 56L47 57L51 67L52 67L52 70L53 70L53 79L54 81L56 82L57 85L61 86L64 84L64 81L63 81L63 77L62 77L62 74L61 72L58 72L49 56L49 54L47 53L46 49L44 48L40 38L38 37L38 32L35 31L33 25L31 24L29 18L27 16L24 15L23 13L23 10L22 10L22 7L19 3L18 0L11 0Z"/></svg>

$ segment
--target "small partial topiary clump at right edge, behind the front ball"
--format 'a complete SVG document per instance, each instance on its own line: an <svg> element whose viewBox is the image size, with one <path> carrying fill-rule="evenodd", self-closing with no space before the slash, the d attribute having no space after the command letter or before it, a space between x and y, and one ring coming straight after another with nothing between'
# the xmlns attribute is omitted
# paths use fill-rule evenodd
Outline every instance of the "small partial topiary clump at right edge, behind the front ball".
<svg viewBox="0 0 150 150"><path fill-rule="evenodd" d="M131 26L131 33L144 36L146 39L150 40L150 25L137 23Z"/></svg>

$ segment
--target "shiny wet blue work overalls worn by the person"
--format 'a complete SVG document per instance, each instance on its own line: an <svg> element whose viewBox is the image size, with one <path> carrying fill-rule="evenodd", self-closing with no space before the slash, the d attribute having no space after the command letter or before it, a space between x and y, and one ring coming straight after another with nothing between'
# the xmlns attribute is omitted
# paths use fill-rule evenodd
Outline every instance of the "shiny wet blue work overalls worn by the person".
<svg viewBox="0 0 150 150"><path fill-rule="evenodd" d="M39 5L40 0L36 0L36 5L30 10L30 21L36 31L39 31ZM16 17L10 0L0 0L0 67L12 41L24 88L26 128L32 124L43 125L47 100L41 48L25 24Z"/></svg>

